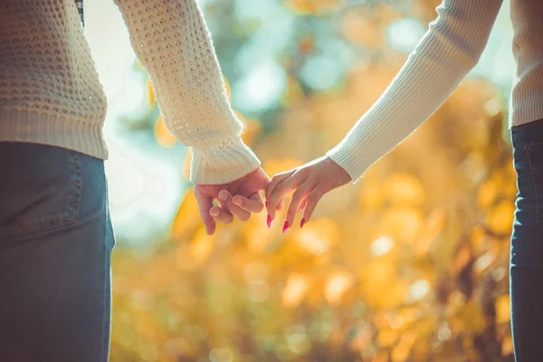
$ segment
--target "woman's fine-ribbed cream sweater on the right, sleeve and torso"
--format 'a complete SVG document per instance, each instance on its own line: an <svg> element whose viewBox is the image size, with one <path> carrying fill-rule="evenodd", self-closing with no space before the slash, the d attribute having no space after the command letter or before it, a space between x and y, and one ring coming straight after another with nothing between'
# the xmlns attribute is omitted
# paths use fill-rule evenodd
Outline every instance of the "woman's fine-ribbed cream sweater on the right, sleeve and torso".
<svg viewBox="0 0 543 362"><path fill-rule="evenodd" d="M443 0L379 100L327 155L353 182L428 119L475 66L502 0ZM543 119L543 0L510 0L517 61L510 126ZM543 142L543 139L541 140Z"/></svg>

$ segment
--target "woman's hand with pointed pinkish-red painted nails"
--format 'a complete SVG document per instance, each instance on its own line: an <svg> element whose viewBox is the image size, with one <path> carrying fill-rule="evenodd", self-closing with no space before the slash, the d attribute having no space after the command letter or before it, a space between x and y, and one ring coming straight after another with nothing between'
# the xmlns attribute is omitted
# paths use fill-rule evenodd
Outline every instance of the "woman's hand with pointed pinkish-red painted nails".
<svg viewBox="0 0 543 362"><path fill-rule="evenodd" d="M300 222L300 227L302 227L310 221L311 214L323 195L348 184L351 179L347 171L326 156L273 176L271 183L266 187L268 227L275 219L275 212L281 205L281 201L292 191L294 195L287 211L283 233L294 223L294 217L298 211L304 210Z"/></svg>

